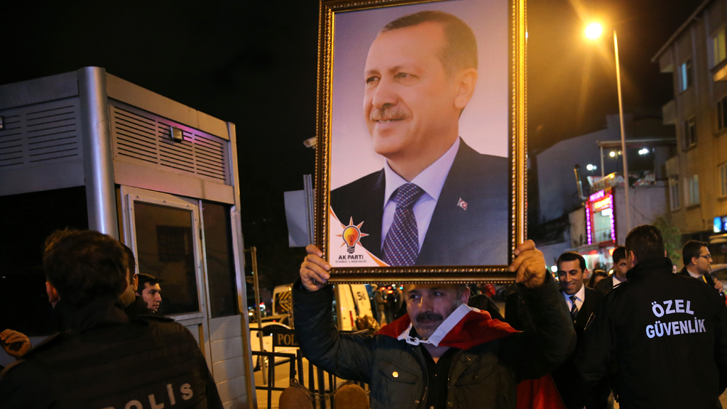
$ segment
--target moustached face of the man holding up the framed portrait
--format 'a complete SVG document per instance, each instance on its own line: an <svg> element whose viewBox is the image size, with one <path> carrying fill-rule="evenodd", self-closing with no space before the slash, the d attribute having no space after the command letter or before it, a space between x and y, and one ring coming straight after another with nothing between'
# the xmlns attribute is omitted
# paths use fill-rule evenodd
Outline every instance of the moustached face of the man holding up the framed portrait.
<svg viewBox="0 0 727 409"><path fill-rule="evenodd" d="M422 339L429 339L439 325L470 299L470 289L457 293L456 285L411 284L405 287L406 313Z"/></svg>

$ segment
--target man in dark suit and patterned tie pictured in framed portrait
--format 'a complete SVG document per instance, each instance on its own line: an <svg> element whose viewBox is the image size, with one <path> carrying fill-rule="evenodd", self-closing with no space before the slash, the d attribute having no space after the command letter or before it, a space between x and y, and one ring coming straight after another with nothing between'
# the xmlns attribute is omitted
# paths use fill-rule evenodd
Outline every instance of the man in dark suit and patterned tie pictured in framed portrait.
<svg viewBox="0 0 727 409"><path fill-rule="evenodd" d="M459 137L477 63L473 31L445 12L393 20L371 44L364 119L384 167L332 191L331 207L365 222L361 245L390 266L507 263L509 162Z"/></svg>

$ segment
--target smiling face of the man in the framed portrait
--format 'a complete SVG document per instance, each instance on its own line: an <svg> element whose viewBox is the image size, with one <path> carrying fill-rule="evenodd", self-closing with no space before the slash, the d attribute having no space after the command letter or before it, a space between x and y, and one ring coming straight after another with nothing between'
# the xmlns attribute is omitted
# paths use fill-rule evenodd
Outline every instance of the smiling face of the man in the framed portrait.
<svg viewBox="0 0 727 409"><path fill-rule="evenodd" d="M438 152L431 163L454 143L477 70L448 74L440 59L445 45L443 26L432 22L384 31L371 44L364 119L378 154L416 161Z"/></svg>

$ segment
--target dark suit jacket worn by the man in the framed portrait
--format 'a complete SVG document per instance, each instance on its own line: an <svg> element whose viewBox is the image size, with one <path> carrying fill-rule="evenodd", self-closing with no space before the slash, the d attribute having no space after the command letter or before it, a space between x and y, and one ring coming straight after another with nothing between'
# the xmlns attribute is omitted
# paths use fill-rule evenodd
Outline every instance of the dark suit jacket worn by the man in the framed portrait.
<svg viewBox="0 0 727 409"><path fill-rule="evenodd" d="M449 175L419 249L417 266L484 266L507 263L509 219L507 158L479 154L459 142ZM361 245L382 258L384 170L331 192L331 207L341 223L362 221ZM459 199L467 210L458 207Z"/></svg>

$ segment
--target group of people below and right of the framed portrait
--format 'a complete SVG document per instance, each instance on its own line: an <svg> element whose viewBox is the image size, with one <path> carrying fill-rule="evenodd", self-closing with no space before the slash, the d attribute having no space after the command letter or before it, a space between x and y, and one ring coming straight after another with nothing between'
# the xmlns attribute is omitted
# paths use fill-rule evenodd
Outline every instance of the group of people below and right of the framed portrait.
<svg viewBox="0 0 727 409"><path fill-rule="evenodd" d="M528 241L504 321L467 305L467 285L409 284L406 314L373 336L337 333L329 263L307 250L293 289L300 346L368 383L371 408L607 408L611 394L622 408L721 407L727 306L706 243L687 242L674 274L659 229L638 226L613 272L586 283L582 255L563 253L556 280Z"/></svg>

